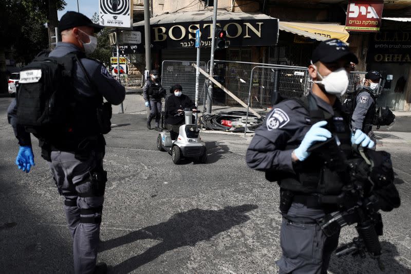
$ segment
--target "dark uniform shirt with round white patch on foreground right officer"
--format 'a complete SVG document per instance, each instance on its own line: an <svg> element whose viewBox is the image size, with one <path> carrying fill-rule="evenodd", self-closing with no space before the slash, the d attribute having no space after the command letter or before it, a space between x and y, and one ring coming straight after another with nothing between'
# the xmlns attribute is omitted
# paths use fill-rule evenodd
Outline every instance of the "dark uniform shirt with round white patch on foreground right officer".
<svg viewBox="0 0 411 274"><path fill-rule="evenodd" d="M334 115L331 105L315 95L313 97L320 109ZM334 106L336 104L340 104L340 101L336 100ZM334 117L334 120L342 119ZM272 169L294 173L291 161L294 149L285 148L291 144L300 145L310 127L309 112L301 103L284 100L274 105L263 125L255 131L246 153L247 165L259 171Z"/></svg>

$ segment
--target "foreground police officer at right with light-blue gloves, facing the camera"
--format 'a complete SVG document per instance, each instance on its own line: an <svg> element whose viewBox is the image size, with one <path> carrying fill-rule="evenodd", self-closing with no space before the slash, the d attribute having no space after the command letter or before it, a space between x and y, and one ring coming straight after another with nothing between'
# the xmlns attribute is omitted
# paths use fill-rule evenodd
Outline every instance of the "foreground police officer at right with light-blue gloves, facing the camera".
<svg viewBox="0 0 411 274"><path fill-rule="evenodd" d="M313 79L308 97L274 105L247 150L248 166L265 171L266 178L280 187L283 255L276 262L280 273L327 273L331 252L338 246L339 233L327 238L316 223L333 209L322 205L317 195L340 194L344 182L325 170L309 149L337 137L345 150L351 143L373 145L360 130L351 133L341 111L338 97L347 90L350 62L358 59L342 41L321 42L308 67ZM328 179L324 174L330 175Z"/></svg>

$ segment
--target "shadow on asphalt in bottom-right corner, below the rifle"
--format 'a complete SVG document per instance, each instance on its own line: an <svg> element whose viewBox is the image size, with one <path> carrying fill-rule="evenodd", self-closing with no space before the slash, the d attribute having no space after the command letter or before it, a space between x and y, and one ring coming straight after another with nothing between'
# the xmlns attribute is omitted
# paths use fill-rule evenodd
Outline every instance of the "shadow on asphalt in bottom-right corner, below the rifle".
<svg viewBox="0 0 411 274"><path fill-rule="evenodd" d="M333 256L328 270L331 273L411 273L411 269L406 268L395 259L400 254L394 244L384 241L381 242L381 248L382 254L380 258L385 267L384 271L379 269L376 260L369 259L369 257L367 259L353 258L350 255L341 258Z"/></svg>

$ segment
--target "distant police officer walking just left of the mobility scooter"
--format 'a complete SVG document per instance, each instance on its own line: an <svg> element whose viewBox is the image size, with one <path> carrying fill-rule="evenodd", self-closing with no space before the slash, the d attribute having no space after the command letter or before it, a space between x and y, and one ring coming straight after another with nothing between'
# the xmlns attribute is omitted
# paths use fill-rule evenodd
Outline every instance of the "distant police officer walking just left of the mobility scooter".
<svg viewBox="0 0 411 274"><path fill-rule="evenodd" d="M151 120L156 118L156 131L160 130L161 118L161 99L165 98L165 89L161 87L158 80L158 72L155 69L150 70L150 79L145 81L143 87L143 98L145 106L150 107L150 116L147 119L147 129L151 129Z"/></svg>

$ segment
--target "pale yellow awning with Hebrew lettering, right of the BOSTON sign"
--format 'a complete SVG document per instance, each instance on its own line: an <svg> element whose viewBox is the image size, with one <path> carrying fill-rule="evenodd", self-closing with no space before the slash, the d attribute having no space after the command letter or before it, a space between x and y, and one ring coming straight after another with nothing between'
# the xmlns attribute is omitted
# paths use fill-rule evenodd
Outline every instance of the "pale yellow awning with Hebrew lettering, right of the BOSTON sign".
<svg viewBox="0 0 411 274"><path fill-rule="evenodd" d="M343 42L347 42L349 37L349 33L345 30L345 26L336 24L315 24L280 21L279 29L298 35L303 35L319 41L337 38Z"/></svg>

